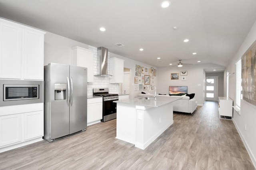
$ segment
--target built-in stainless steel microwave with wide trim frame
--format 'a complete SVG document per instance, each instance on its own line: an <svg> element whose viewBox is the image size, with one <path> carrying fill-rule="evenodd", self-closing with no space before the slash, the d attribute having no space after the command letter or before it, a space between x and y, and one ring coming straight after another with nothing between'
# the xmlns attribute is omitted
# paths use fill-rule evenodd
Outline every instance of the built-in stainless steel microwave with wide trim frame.
<svg viewBox="0 0 256 170"><path fill-rule="evenodd" d="M44 81L0 80L0 106L44 102Z"/></svg>

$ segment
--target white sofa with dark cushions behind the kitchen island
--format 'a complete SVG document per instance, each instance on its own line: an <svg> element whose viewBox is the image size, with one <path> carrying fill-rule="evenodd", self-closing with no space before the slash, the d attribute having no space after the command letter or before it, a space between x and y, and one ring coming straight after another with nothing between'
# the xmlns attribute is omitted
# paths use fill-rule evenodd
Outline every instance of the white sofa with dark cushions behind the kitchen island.
<svg viewBox="0 0 256 170"><path fill-rule="evenodd" d="M146 97L146 96L154 96L153 94L138 94L138 97ZM159 95L156 96L164 96L170 97L169 95ZM189 99L188 96L172 96L172 97L182 97L180 100L176 100L173 102L173 111L184 112L184 113L193 113L195 109L197 109L196 99Z"/></svg>

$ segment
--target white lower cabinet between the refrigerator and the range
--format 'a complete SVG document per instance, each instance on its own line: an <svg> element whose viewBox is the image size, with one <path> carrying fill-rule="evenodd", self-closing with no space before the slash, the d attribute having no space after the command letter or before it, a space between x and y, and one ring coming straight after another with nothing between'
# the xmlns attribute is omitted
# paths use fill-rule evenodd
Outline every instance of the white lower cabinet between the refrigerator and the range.
<svg viewBox="0 0 256 170"><path fill-rule="evenodd" d="M87 99L87 126L99 123L102 119L102 98Z"/></svg>

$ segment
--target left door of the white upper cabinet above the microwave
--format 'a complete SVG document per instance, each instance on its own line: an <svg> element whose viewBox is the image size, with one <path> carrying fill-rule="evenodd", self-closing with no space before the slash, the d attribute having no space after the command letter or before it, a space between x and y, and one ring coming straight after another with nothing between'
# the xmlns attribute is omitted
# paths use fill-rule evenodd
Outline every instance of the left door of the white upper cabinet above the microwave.
<svg viewBox="0 0 256 170"><path fill-rule="evenodd" d="M0 22L0 78L21 79L22 30Z"/></svg>

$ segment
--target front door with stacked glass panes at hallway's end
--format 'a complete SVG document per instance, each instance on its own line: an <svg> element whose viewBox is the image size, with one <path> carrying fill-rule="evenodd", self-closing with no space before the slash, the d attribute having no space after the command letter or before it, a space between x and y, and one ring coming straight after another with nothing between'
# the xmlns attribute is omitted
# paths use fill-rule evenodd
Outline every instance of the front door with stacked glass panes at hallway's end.
<svg viewBox="0 0 256 170"><path fill-rule="evenodd" d="M206 77L205 100L217 101L218 99L217 82L218 82L218 77L216 76Z"/></svg>

